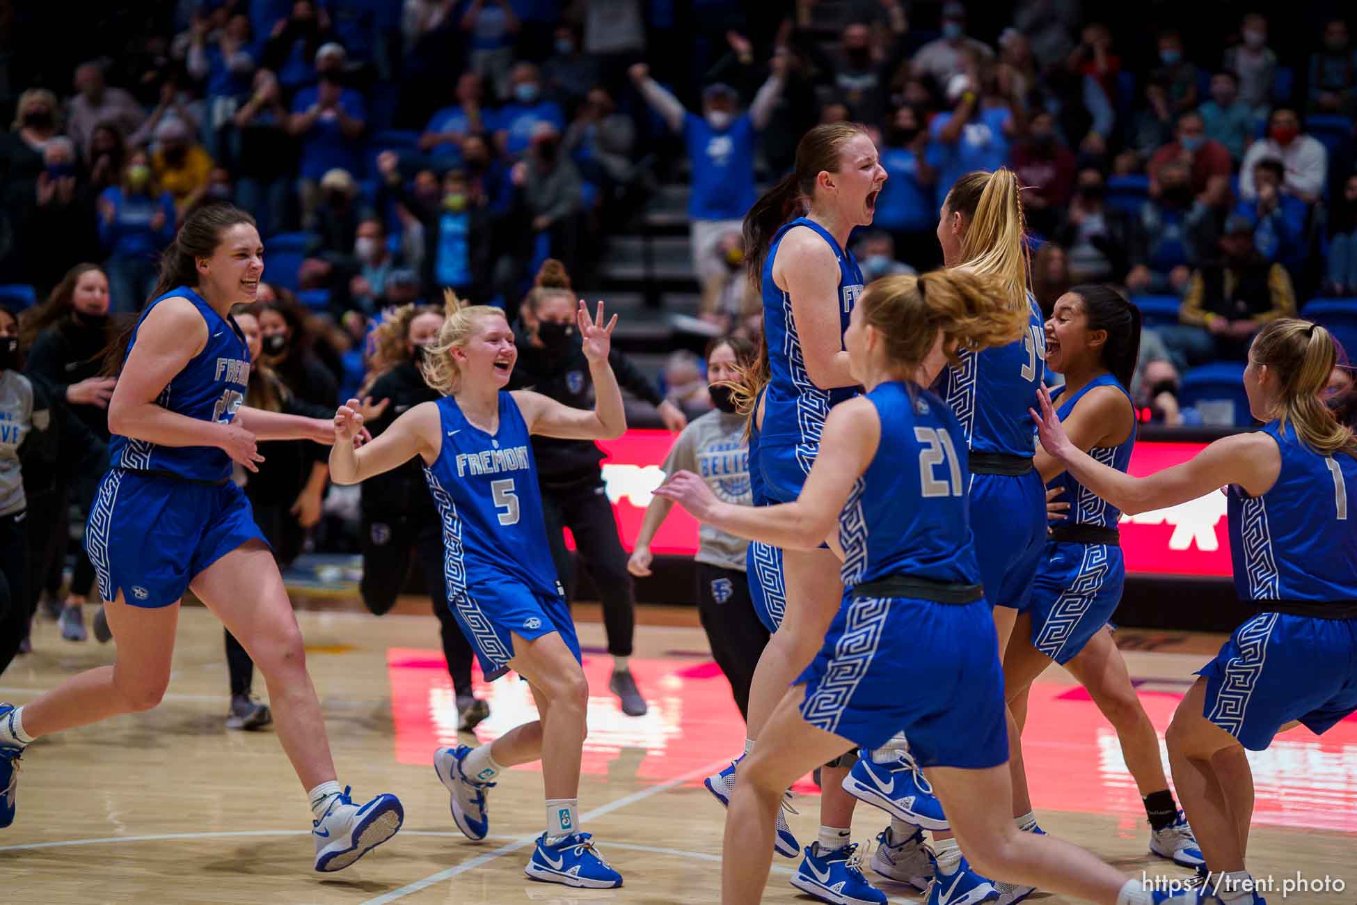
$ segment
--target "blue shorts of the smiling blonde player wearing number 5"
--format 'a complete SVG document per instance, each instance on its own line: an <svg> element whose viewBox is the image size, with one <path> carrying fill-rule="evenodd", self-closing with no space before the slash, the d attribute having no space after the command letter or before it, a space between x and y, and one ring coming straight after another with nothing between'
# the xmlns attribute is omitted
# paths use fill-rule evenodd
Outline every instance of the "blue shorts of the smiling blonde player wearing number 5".
<svg viewBox="0 0 1357 905"><path fill-rule="evenodd" d="M577 662L584 662L579 638L563 594L543 594L510 575L468 582L465 589L448 588L452 613L461 634L471 642L486 681L509 672L513 635L537 640L556 632Z"/></svg>

